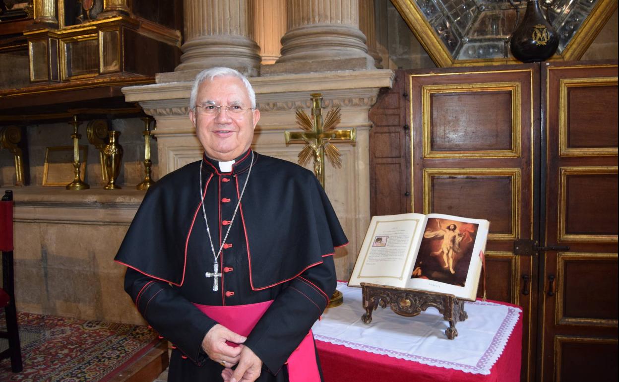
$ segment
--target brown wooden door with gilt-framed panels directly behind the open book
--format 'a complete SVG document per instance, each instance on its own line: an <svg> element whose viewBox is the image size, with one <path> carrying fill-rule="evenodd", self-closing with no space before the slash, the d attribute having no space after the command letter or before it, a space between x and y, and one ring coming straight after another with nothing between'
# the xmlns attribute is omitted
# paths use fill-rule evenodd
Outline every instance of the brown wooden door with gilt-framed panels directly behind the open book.
<svg viewBox="0 0 619 382"><path fill-rule="evenodd" d="M522 306L522 375L529 380L537 257L514 253L514 241L535 240L539 228L539 66L415 71L407 82L412 210L490 220L487 297Z"/></svg>

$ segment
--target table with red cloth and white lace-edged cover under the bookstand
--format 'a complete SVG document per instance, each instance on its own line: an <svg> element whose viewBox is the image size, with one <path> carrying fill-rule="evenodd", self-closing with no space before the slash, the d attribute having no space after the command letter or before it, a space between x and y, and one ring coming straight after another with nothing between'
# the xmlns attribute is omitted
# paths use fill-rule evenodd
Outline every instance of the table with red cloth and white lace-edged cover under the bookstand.
<svg viewBox="0 0 619 382"><path fill-rule="evenodd" d="M373 314L373 322L366 325L361 322L361 315L365 312L361 304L361 289L347 287L341 282L337 289L344 294L344 305L327 310L313 328L325 382L520 380L522 310L516 305L479 301L465 303L469 318L458 323L459 336L448 340L444 329L449 324L442 321L442 315L434 308L415 317L397 316L389 308L378 308ZM501 321L487 319L488 315L485 314L480 317L476 311L480 306L492 310L497 318L500 317L498 311L507 312L506 318ZM513 317L509 318L509 315ZM390 333L385 334L384 329L372 328L374 323L381 326L378 321L383 321L383 328L387 328ZM477 336L476 331L483 331L485 327L488 327L488 339L491 340L472 345L469 340ZM373 332L373 335L364 336L366 332ZM402 338L404 344L417 343L412 346L414 350L406 354L401 349L387 349L386 343L389 341L384 341L384 336L392 335ZM483 355L478 362L437 361L441 358L437 355L441 350L437 349L458 346L470 346ZM383 354L376 354L377 351ZM457 350L457 353L460 352L465 353L467 350Z"/></svg>

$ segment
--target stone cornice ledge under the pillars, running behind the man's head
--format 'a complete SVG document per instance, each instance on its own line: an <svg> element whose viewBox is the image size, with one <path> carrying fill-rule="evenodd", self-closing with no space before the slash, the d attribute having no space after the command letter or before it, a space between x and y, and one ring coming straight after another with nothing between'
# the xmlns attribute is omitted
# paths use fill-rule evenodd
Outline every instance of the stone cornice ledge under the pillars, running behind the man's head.
<svg viewBox="0 0 619 382"><path fill-rule="evenodd" d="M306 98L306 92L391 87L394 76L394 72L389 69L377 69L251 77L249 82L254 87L258 102L261 102L261 98L264 98L265 95L290 92L296 93L295 98L301 94L303 94L303 98ZM167 82L163 84L124 87L122 91L127 102L157 101L162 99L169 102L172 99L189 98L191 85L191 82ZM289 97L286 98L290 99Z"/></svg>

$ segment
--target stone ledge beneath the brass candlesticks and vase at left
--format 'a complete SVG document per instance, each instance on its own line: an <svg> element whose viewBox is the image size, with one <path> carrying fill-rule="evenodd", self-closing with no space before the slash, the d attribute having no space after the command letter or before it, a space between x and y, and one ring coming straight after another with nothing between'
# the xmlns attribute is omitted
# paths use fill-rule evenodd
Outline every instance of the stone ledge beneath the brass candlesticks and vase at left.
<svg viewBox="0 0 619 382"><path fill-rule="evenodd" d="M1 191L9 189L2 187ZM69 191L61 187L13 187L14 220L25 223L128 225L145 191L91 188Z"/></svg>

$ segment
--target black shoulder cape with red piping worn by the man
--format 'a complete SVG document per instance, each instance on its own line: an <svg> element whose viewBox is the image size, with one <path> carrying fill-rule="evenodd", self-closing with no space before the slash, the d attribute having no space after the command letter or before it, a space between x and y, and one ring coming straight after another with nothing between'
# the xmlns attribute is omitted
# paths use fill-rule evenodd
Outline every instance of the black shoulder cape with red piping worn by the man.
<svg viewBox="0 0 619 382"><path fill-rule="evenodd" d="M211 174L220 172L216 162L203 160L204 187ZM239 189L250 160L248 151L233 166ZM202 215L199 168L200 161L189 163L149 189L116 261L155 279L183 284L188 234ZM293 279L321 262L322 256L333 254L335 247L348 243L316 176L285 160L254 152L251 178L238 213L236 219L241 218L245 225L254 290ZM240 219L235 222L240 223ZM219 240L214 240L214 245L217 252ZM292 253L294 256L285 256Z"/></svg>

